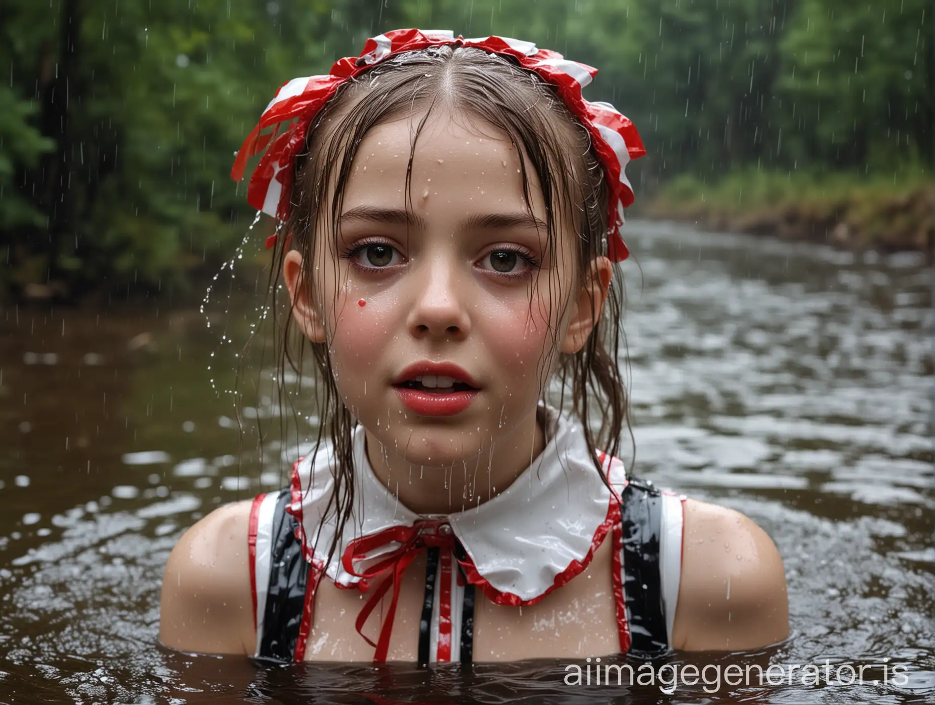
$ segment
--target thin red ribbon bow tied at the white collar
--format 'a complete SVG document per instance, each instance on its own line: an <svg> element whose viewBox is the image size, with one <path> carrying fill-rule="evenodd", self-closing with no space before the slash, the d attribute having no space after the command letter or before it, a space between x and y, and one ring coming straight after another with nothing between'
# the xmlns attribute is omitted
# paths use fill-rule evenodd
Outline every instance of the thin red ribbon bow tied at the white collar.
<svg viewBox="0 0 935 705"><path fill-rule="evenodd" d="M396 618L399 588L406 568L424 549L438 546L453 551L454 542L455 536L448 521L429 519L416 521L412 526L391 526L376 534L356 538L345 549L344 555L341 557L341 565L350 575L361 579L357 586L362 593L366 593L370 589L370 579L385 576L377 589L373 591L373 594L367 598L367 602L360 610L360 614L357 615L357 621L354 624L357 633L367 639L370 646L376 647L377 651L373 655L374 661L386 660L386 654L390 648L390 636L393 633L393 620ZM380 549L390 543L396 543L396 549L381 554L379 561L367 566L361 572L357 572L356 563L367 560L367 556L371 551ZM393 588L393 598L390 601L390 608L386 611L386 617L380 629L380 637L374 642L364 634L364 624L367 623L367 617L380 604L383 595L386 595L391 587Z"/></svg>

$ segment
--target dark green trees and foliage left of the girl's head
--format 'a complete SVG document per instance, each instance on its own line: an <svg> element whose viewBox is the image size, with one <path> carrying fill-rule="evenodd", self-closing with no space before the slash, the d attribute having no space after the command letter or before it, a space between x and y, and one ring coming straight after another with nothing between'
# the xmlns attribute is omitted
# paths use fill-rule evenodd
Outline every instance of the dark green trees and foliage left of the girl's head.
<svg viewBox="0 0 935 705"><path fill-rule="evenodd" d="M340 6L5 3L0 282L184 285L225 257L252 217L240 142L278 86L372 31L371 3Z"/></svg>

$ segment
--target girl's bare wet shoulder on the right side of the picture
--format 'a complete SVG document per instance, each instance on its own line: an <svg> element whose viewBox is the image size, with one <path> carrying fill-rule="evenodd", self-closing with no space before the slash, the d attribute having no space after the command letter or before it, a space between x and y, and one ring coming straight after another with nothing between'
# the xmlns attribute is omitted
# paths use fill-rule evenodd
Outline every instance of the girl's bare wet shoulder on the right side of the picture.
<svg viewBox="0 0 935 705"><path fill-rule="evenodd" d="M675 648L755 649L788 634L783 559L770 536L738 511L686 500Z"/></svg>

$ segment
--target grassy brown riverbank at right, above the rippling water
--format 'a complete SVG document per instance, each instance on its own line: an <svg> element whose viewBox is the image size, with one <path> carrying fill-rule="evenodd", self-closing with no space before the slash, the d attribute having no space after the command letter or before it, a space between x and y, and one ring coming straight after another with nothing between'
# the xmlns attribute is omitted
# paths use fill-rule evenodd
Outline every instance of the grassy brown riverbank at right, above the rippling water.
<svg viewBox="0 0 935 705"><path fill-rule="evenodd" d="M712 184L680 176L640 208L640 217L785 240L881 252L921 251L932 259L935 185L907 169L896 182L853 174L813 176L742 171Z"/></svg>

